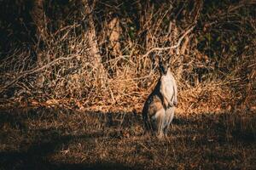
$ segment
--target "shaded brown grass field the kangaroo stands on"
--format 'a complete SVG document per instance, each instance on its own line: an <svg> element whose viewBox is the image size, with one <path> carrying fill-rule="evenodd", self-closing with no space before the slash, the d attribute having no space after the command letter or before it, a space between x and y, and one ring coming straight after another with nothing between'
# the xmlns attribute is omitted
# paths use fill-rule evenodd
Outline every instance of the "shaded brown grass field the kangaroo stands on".
<svg viewBox="0 0 256 170"><path fill-rule="evenodd" d="M166 139L140 114L1 111L0 169L254 169L256 116L177 113Z"/></svg>

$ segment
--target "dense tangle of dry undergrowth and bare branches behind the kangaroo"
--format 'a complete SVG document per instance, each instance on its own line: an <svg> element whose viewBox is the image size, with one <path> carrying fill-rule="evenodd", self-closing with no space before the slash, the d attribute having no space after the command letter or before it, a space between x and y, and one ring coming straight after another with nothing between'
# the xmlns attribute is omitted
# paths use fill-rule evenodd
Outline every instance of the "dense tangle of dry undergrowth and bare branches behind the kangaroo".
<svg viewBox="0 0 256 170"><path fill-rule="evenodd" d="M181 110L255 110L253 1L96 1L91 14L103 84L83 3L45 1L41 35L32 2L1 3L1 107L140 110L161 58L169 59L177 78Z"/></svg>

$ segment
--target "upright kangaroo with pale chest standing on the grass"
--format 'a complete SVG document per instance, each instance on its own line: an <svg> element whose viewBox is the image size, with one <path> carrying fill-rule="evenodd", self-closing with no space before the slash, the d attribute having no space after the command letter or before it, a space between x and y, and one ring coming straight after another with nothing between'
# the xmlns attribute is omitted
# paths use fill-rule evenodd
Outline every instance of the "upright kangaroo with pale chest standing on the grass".
<svg viewBox="0 0 256 170"><path fill-rule="evenodd" d="M177 84L172 72L160 62L160 78L143 106L143 122L146 132L156 132L161 138L167 135L175 105L177 105Z"/></svg>

